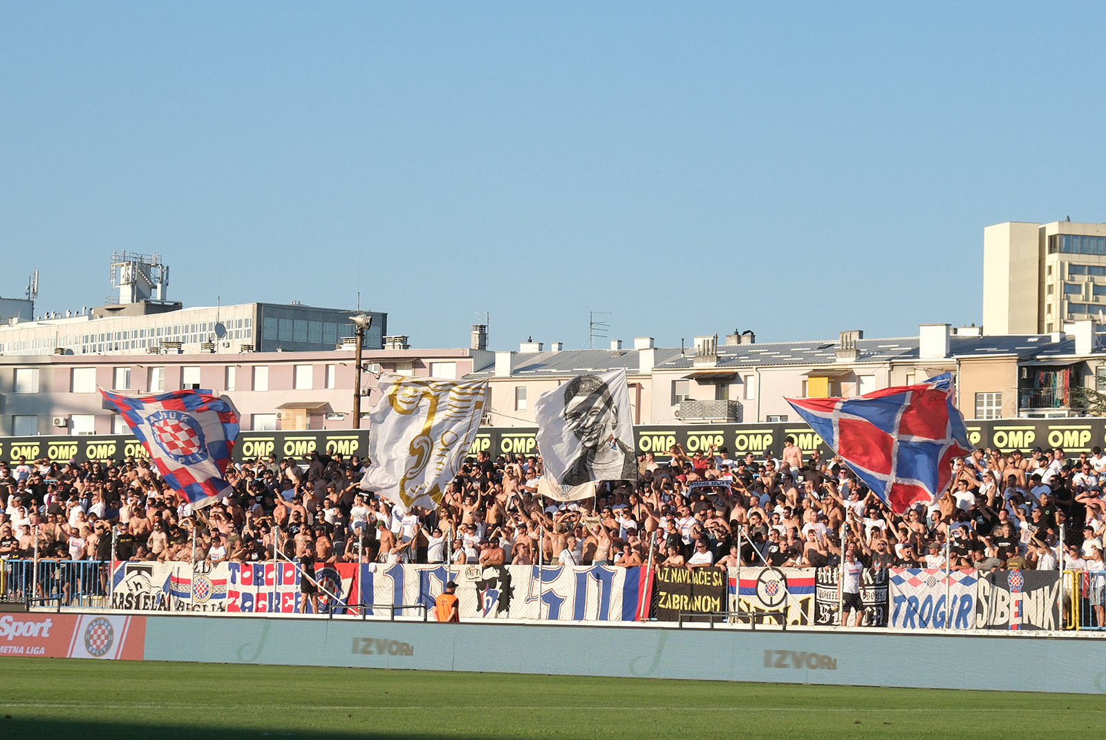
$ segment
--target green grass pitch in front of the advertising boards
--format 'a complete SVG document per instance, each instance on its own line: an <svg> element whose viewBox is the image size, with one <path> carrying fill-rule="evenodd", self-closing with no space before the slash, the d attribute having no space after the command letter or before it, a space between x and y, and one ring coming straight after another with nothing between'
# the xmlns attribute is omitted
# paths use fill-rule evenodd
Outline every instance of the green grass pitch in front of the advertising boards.
<svg viewBox="0 0 1106 740"><path fill-rule="evenodd" d="M0 658L0 738L28 740L1040 740L1106 719L1100 696L50 658Z"/></svg>

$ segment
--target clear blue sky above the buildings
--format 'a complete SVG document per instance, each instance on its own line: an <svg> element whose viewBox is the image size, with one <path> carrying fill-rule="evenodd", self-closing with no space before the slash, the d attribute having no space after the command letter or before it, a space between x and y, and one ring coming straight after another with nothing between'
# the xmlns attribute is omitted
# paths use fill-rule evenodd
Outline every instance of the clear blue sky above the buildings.
<svg viewBox="0 0 1106 740"><path fill-rule="evenodd" d="M1106 6L0 2L0 294L387 311L417 347L917 333L1106 220Z"/></svg>

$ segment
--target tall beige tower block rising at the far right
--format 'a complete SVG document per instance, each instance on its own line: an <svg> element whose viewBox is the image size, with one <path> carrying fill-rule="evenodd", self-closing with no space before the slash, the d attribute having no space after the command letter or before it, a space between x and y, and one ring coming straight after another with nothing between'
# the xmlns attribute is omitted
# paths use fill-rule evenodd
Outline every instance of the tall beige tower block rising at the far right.
<svg viewBox="0 0 1106 740"><path fill-rule="evenodd" d="M983 229L983 330L1051 334L1106 320L1106 223L1006 221Z"/></svg>

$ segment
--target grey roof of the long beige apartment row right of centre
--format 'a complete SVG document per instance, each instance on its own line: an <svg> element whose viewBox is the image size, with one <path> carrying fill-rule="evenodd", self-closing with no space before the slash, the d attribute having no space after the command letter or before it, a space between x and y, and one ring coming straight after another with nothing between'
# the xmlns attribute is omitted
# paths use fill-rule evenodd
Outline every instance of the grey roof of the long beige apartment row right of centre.
<svg viewBox="0 0 1106 740"><path fill-rule="evenodd" d="M1106 334L1099 333L1096 345L1106 347ZM857 340L859 357L855 363L886 363L918 359L918 337ZM776 365L833 365L837 342L812 340L808 342L766 342L762 344L718 345L718 364L702 367L703 372L718 372L727 367L765 367ZM1008 336L950 337L950 358L960 356L1016 355L1019 361L1046 361L1050 357L1071 357L1075 340L1064 335L1053 342L1048 334L1013 334ZM1106 355L1104 355L1106 356ZM657 347L654 367L660 371L691 369L695 347L682 353L678 347ZM636 374L640 367L637 350L562 350L560 352L517 352L512 357L512 377L557 377L578 373L605 372L626 368ZM697 368L700 369L700 368ZM494 375L494 367L487 367L467 377L484 378Z"/></svg>

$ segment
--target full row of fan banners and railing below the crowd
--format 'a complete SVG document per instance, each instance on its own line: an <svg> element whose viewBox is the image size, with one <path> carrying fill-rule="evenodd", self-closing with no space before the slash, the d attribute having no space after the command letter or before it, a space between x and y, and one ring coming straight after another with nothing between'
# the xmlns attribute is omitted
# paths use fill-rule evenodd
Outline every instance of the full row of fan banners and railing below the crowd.
<svg viewBox="0 0 1106 740"><path fill-rule="evenodd" d="M462 619L839 625L835 567L316 563L319 612L392 616L456 581ZM8 560L0 600L138 612L313 613L296 563ZM332 598L328 594L334 594ZM862 624L897 629L1106 629L1106 572L866 569ZM333 601L333 603L332 603ZM375 606L375 608L374 608ZM421 608L395 609L421 617ZM681 616L682 615L682 616Z"/></svg>

